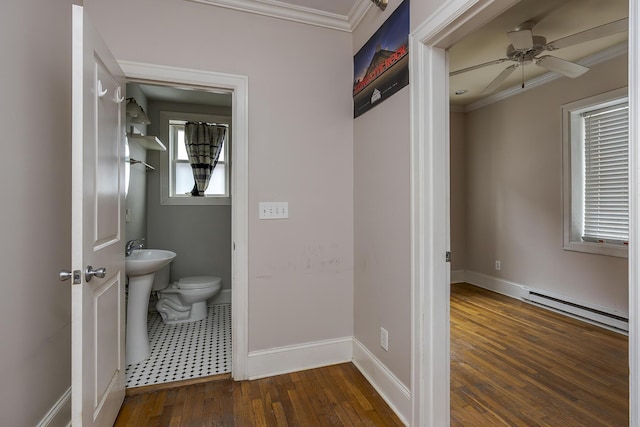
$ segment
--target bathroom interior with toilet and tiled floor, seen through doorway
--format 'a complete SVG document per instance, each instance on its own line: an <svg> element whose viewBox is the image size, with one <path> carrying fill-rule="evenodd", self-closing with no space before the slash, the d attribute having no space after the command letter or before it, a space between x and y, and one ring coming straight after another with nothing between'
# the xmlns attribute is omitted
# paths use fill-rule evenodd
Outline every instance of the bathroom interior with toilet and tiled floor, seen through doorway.
<svg viewBox="0 0 640 427"><path fill-rule="evenodd" d="M143 287L134 288L139 283L138 277L133 277L133 273L128 272L128 310L135 308L139 313L138 316L132 316L131 311L127 313L126 387L150 386L230 373L230 132L226 133L226 147L209 184L209 188L215 187L224 194L220 197L189 197L176 189L176 194L182 196L169 197L168 192L169 180L174 175L169 164L169 120L215 123L226 125L230 129L232 96L224 91L207 92L129 82L127 98L128 101L134 100L146 117L140 120L128 109L126 240L135 241L135 255L148 249L161 249L175 253L175 257L155 272L151 290L143 291L142 297L135 297L143 299L143 303L136 303L133 297ZM182 166L186 166L187 170L190 168L188 163ZM224 173L225 170L227 174ZM139 249L140 246L142 249ZM125 260L132 260L135 255L130 255ZM174 292L172 289L186 288L183 284L194 278L196 283L204 279L209 289L206 295L212 295L205 302L199 303L199 309L202 309L200 311L206 313L203 314L203 319L196 321L192 321L191 316L181 314L180 301L184 302L182 295L174 302L164 298L170 298L170 294L176 292L192 292L181 289ZM192 309L195 306L185 303L185 313L195 312ZM159 309L165 314L161 315ZM135 327L136 317L141 319L141 327L146 327L144 334L140 336L129 333L129 329L133 330L130 326ZM139 350L137 342L145 339L149 342L146 353ZM135 345L132 344L133 341L136 341Z"/></svg>

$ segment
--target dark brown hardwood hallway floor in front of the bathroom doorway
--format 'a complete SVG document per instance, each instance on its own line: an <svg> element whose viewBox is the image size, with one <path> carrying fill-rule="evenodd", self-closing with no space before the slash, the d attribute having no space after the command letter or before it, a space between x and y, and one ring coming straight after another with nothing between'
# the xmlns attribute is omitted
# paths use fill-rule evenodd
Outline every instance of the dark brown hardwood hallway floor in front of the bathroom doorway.
<svg viewBox="0 0 640 427"><path fill-rule="evenodd" d="M351 363L125 398L115 426L402 426Z"/></svg>

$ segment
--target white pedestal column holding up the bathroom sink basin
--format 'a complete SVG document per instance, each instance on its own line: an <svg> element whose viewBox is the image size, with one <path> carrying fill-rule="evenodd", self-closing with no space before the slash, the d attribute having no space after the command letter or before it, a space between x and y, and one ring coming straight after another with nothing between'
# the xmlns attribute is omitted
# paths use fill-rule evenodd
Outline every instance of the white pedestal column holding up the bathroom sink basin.
<svg viewBox="0 0 640 427"><path fill-rule="evenodd" d="M151 354L149 333L147 332L147 314L149 312L149 296L151 295L155 275L156 273L154 272L142 276L129 277L126 328L127 365L140 363Z"/></svg>

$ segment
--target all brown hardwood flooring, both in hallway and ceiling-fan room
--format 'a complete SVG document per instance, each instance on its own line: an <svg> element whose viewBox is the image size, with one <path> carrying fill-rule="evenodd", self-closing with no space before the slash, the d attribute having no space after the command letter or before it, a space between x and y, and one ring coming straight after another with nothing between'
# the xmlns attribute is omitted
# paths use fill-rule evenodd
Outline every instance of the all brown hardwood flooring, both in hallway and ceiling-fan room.
<svg viewBox="0 0 640 427"><path fill-rule="evenodd" d="M451 425L626 426L628 340L451 286ZM135 390L135 389L134 389ZM402 426L351 364L129 393L115 426Z"/></svg>

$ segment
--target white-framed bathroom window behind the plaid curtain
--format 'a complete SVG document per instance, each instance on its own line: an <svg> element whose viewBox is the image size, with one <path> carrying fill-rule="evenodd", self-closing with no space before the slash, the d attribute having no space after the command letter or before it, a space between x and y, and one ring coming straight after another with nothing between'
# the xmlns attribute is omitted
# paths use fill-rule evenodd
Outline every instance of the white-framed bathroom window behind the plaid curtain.
<svg viewBox="0 0 640 427"><path fill-rule="evenodd" d="M184 125L188 121L206 122L230 128L229 117L161 112L160 121L167 135L165 141L168 142L167 151L161 154L161 203L163 205L230 204L230 129L204 197L191 196L194 180L184 144Z"/></svg>

